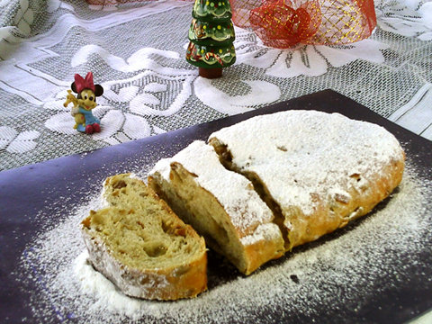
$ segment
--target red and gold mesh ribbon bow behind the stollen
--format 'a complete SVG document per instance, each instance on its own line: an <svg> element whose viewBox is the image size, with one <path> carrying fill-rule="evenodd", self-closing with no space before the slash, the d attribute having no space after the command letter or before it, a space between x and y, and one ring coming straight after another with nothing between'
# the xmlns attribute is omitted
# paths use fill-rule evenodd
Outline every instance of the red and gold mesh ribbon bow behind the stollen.
<svg viewBox="0 0 432 324"><path fill-rule="evenodd" d="M231 0L231 8L233 23L279 49L349 44L376 26L374 0Z"/></svg>

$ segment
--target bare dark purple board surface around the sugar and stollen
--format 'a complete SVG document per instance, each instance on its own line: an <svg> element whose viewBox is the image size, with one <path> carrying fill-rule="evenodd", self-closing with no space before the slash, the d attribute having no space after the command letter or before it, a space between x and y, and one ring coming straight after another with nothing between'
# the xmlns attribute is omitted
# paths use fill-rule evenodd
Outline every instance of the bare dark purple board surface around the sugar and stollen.
<svg viewBox="0 0 432 324"><path fill-rule="evenodd" d="M35 215L39 211L58 202L58 199L62 199L60 197L67 197L63 210L60 210L60 213L64 211L67 214L72 202L85 202L88 193L99 190L106 176L121 172L139 172L139 167L153 165L156 162L155 157L158 159L172 156L194 139L207 139L214 130L258 114L292 109L340 112L352 119L382 125L401 142L408 143L404 147L407 155L416 156L413 163L417 169L423 171L428 179L432 177L430 171L432 142L383 119L365 106L331 90L308 94L288 102L276 103L253 112L184 130L0 172L0 322L17 323L23 318L27 318L26 322L35 322L32 320L34 316L28 306L30 294L23 291L11 272L17 270L24 247L36 236L40 228L46 223L55 224L55 217L42 221L36 220ZM60 213L56 212L56 214ZM422 275L412 276L410 284L392 288L386 295L374 296L358 313L358 318L344 318L344 305L339 305L338 311L332 308L316 311L315 319L304 317L304 314L283 312L281 309L264 310L266 313L262 316L258 314L257 318L263 319L264 322L315 320L318 323L344 321L398 323L410 320L416 314L432 308L432 282L428 281L428 278L432 277L432 242L429 243L428 250L419 251L424 260L424 265L420 265ZM211 263L211 257L209 262ZM407 266L407 269L407 271L412 270L413 274L419 274L419 271L414 271L418 270L414 267ZM55 318L54 311L53 318ZM83 321L84 319L73 320L73 322Z"/></svg>

